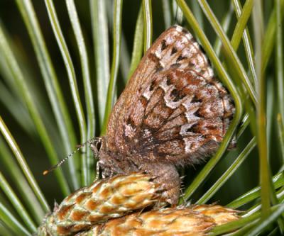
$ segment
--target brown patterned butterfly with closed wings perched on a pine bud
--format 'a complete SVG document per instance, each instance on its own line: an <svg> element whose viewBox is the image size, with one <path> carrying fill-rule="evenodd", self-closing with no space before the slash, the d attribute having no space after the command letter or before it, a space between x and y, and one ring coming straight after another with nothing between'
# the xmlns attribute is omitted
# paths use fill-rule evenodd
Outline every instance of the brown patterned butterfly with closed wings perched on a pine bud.
<svg viewBox="0 0 284 236"><path fill-rule="evenodd" d="M178 167L217 151L234 116L229 92L214 77L202 47L180 26L148 49L119 96L104 137L90 146L102 177L146 172L177 204Z"/></svg>

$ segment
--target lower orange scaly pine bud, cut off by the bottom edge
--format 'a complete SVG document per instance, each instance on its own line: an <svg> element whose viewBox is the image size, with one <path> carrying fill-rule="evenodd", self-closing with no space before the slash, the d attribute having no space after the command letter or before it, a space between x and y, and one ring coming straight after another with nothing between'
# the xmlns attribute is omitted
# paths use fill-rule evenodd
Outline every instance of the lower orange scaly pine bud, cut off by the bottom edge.
<svg viewBox="0 0 284 236"><path fill-rule="evenodd" d="M164 208L109 220L76 236L202 236L215 225L213 218L190 208Z"/></svg>

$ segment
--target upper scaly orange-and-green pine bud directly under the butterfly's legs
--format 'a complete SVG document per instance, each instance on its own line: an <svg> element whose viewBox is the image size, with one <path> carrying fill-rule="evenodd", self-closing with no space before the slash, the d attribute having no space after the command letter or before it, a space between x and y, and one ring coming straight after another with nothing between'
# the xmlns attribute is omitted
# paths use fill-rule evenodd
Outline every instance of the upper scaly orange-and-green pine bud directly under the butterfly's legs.
<svg viewBox="0 0 284 236"><path fill-rule="evenodd" d="M159 191L160 186L153 178L142 173L96 181L67 196L53 213L46 216L38 233L72 235L96 223L152 206L159 200Z"/></svg>

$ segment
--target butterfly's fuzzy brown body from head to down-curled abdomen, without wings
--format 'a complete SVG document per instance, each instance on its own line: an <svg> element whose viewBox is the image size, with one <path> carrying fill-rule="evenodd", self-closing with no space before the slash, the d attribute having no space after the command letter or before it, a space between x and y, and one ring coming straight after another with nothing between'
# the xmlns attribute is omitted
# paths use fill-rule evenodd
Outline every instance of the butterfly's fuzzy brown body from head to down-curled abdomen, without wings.
<svg viewBox="0 0 284 236"><path fill-rule="evenodd" d="M133 152L125 154L110 150L107 145L107 137L95 138L90 142L94 155L99 158L99 169L102 178L116 174L130 174L131 172L144 172L151 174L153 180L160 184L163 190L163 201L175 205L178 203L180 192L180 178L177 169L168 162L145 162L145 156Z"/></svg>

